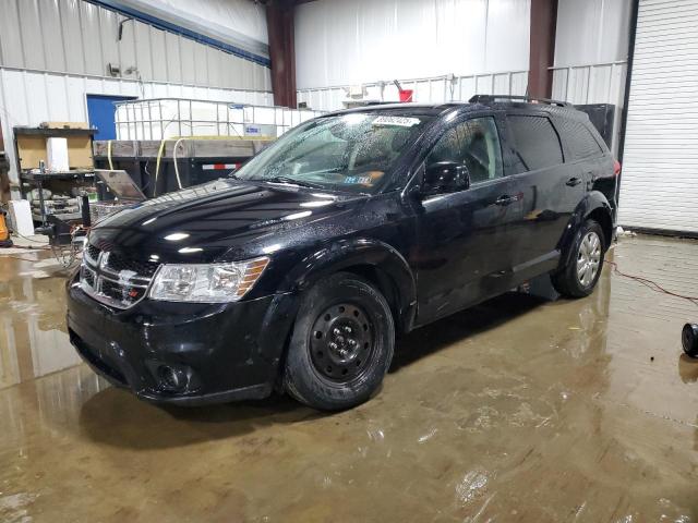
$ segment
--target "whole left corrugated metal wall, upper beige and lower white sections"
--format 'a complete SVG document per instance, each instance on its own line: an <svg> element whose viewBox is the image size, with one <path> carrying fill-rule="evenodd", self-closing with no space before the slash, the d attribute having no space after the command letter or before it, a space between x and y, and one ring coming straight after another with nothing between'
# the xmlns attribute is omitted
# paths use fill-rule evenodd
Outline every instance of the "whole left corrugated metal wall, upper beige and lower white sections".
<svg viewBox="0 0 698 523"><path fill-rule="evenodd" d="M12 127L87 121L87 94L273 105L264 65L83 0L1 2L0 122L13 182ZM134 71L111 77L108 63Z"/></svg>

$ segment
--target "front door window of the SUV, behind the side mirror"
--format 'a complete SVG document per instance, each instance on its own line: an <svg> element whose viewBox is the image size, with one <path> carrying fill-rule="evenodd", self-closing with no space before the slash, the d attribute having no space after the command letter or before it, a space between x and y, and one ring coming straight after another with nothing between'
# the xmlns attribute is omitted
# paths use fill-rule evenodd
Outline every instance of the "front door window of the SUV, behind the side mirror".
<svg viewBox="0 0 698 523"><path fill-rule="evenodd" d="M465 163L471 183L501 178L502 147L494 119L476 118L446 131L426 158L426 165L440 161Z"/></svg>

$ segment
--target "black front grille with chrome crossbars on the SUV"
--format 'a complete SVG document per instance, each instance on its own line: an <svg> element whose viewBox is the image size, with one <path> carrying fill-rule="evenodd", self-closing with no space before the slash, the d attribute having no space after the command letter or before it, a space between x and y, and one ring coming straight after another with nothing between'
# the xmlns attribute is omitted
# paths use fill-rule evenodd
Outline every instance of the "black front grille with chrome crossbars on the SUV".
<svg viewBox="0 0 698 523"><path fill-rule="evenodd" d="M123 255L87 245L80 281L95 300L117 308L128 308L147 293L158 264L137 262Z"/></svg>

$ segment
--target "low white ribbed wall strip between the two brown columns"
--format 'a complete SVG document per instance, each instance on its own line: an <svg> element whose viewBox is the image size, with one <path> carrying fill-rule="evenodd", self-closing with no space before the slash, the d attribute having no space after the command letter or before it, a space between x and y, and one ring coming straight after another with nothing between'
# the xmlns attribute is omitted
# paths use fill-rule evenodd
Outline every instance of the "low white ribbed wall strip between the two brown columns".
<svg viewBox="0 0 698 523"><path fill-rule="evenodd" d="M422 104L444 104L447 101L468 101L472 95L525 95L528 85L528 71L505 73L471 74L467 76L436 76L433 78L401 80L404 89L412 89L413 101ZM364 99L398 101L397 87L392 83L363 84ZM322 111L334 111L349 100L350 86L321 87L298 92L298 101Z"/></svg>

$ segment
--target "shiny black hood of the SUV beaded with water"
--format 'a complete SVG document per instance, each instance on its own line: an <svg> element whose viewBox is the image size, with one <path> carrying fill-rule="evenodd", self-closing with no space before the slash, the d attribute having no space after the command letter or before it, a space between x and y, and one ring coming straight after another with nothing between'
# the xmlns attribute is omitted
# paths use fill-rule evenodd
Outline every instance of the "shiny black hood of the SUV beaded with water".
<svg viewBox="0 0 698 523"><path fill-rule="evenodd" d="M160 263L237 259L299 228L342 219L368 196L293 185L218 180L125 208L98 222L89 242L106 251Z"/></svg>

